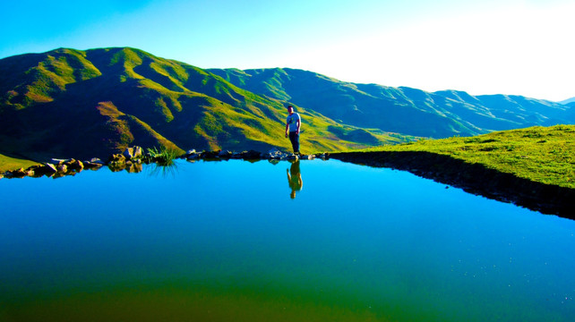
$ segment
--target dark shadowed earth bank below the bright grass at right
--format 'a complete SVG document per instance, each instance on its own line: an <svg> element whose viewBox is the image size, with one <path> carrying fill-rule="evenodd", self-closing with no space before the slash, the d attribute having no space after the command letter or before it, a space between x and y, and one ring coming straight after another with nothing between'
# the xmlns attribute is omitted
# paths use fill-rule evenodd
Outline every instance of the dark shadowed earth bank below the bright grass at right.
<svg viewBox="0 0 575 322"><path fill-rule="evenodd" d="M330 153L330 157L358 165L408 171L489 199L575 220L575 190L533 182L485 165L421 151L337 152Z"/></svg>

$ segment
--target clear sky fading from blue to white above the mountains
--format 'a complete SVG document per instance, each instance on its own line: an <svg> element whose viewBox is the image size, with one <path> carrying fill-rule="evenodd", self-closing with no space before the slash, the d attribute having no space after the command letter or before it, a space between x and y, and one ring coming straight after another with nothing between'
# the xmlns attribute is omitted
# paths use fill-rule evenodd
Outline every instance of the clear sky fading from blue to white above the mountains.
<svg viewBox="0 0 575 322"><path fill-rule="evenodd" d="M291 67L429 91L575 97L572 0L26 1L0 58L136 47L202 68Z"/></svg>

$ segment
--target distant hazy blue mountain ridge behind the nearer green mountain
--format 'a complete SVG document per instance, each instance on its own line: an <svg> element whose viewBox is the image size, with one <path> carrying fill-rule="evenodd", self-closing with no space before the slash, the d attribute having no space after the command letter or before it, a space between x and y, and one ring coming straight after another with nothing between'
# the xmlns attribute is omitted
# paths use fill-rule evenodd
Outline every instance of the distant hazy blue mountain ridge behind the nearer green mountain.
<svg viewBox="0 0 575 322"><path fill-rule="evenodd" d="M528 97L471 96L335 80L289 68L210 69L237 87L288 100L341 123L408 135L445 138L533 125L575 123L571 106Z"/></svg>

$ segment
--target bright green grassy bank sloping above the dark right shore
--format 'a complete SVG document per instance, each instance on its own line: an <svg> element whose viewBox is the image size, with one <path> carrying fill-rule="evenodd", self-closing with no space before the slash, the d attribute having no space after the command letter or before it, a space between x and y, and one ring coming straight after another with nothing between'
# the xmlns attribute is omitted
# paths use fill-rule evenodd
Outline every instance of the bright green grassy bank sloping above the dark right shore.
<svg viewBox="0 0 575 322"><path fill-rule="evenodd" d="M575 189L575 125L419 140L363 151L425 151L482 164L534 182Z"/></svg>

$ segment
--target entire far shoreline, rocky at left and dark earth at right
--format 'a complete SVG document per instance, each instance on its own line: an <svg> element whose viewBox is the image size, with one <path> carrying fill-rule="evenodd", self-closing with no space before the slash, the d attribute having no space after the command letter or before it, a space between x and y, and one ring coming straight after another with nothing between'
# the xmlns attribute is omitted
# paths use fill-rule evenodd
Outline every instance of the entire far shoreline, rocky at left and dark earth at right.
<svg viewBox="0 0 575 322"><path fill-rule="evenodd" d="M142 164L158 163L160 160L142 159L144 154L140 148L134 155L134 148L126 148L123 154L112 155L107 162L99 159L78 161L74 159L54 159L54 164L33 165L27 169L18 169L0 174L0 178L22 178L25 176L61 177L75 175L82 170L97 170L101 166L108 166L112 171L142 171ZM555 215L575 220L575 189L561 187L542 182L534 182L519 178L514 174L502 173L487 168L481 164L469 164L463 160L424 151L373 151L373 152L332 152L316 155L296 157L278 149L271 149L267 153L258 151L232 152L228 150L202 151L189 150L184 155L176 157L195 160L262 160L270 161L290 159L334 158L339 161L368 165L373 167L387 167L401 171L408 171L417 176L432 179L435 182L447 184L463 191L480 195L485 198L502 202L513 203L519 207L541 212L545 215Z"/></svg>

